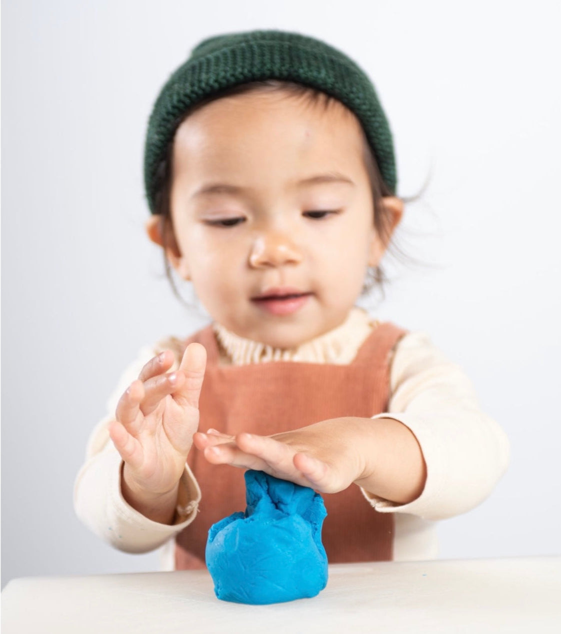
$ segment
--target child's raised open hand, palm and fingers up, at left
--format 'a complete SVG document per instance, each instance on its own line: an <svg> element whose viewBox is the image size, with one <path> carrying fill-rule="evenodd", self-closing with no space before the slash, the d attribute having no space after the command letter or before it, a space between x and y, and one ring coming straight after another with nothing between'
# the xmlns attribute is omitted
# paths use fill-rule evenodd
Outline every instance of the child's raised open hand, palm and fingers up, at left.
<svg viewBox="0 0 561 634"><path fill-rule="evenodd" d="M108 427L124 460L123 494L155 521L162 521L160 501L162 507L175 506L179 479L198 428L206 358L205 348L193 343L176 372L166 373L174 361L172 351L150 359L120 398L115 420ZM167 510L162 510L167 517Z"/></svg>

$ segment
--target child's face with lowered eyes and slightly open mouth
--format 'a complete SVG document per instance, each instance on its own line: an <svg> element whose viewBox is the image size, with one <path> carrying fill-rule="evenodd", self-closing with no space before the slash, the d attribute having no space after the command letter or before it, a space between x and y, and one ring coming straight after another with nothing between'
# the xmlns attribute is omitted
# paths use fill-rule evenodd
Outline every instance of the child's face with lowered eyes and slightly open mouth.
<svg viewBox="0 0 561 634"><path fill-rule="evenodd" d="M174 142L171 213L169 259L212 318L275 347L339 326L384 252L361 129L339 103L248 93L193 113Z"/></svg>

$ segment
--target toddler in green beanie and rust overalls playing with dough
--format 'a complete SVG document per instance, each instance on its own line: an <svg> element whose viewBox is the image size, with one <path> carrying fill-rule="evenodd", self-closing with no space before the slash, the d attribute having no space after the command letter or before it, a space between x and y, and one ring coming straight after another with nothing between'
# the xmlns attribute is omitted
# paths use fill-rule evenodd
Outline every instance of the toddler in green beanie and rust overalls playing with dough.
<svg viewBox="0 0 561 634"><path fill-rule="evenodd" d="M171 75L146 230L212 323L143 349L94 429L75 508L102 539L203 567L257 469L325 494L330 562L430 559L435 521L489 495L508 441L468 379L355 306L383 279L396 180L375 89L324 42L211 37Z"/></svg>

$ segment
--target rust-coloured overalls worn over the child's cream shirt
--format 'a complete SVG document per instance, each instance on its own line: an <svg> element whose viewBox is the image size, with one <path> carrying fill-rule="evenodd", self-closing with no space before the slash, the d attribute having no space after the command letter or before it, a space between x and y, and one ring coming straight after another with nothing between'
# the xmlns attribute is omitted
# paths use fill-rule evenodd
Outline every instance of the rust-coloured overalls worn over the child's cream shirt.
<svg viewBox="0 0 561 634"><path fill-rule="evenodd" d="M207 349L199 429L269 436L329 418L370 418L387 411L390 355L403 335L404 330L391 323L377 325L349 365L296 361L219 365L211 326L184 341L176 352L183 354L193 341ZM212 465L199 451L191 451L188 463L202 499L195 520L177 535L177 570L204 567L210 526L245 509L242 469ZM376 512L354 484L323 498L328 515L322 541L330 563L392 559L392 514Z"/></svg>

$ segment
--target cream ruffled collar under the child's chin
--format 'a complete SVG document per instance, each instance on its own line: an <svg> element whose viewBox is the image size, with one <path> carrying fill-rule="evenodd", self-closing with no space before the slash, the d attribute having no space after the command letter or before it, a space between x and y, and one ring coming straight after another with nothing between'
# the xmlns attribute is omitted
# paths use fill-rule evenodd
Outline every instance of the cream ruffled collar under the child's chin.
<svg viewBox="0 0 561 634"><path fill-rule="evenodd" d="M251 339L238 337L219 323L212 326L221 349L221 363L247 365L268 361L300 361L300 363L335 363L344 365L352 359L370 335L377 322L366 311L354 307L337 328L307 341L296 348L274 348Z"/></svg>

